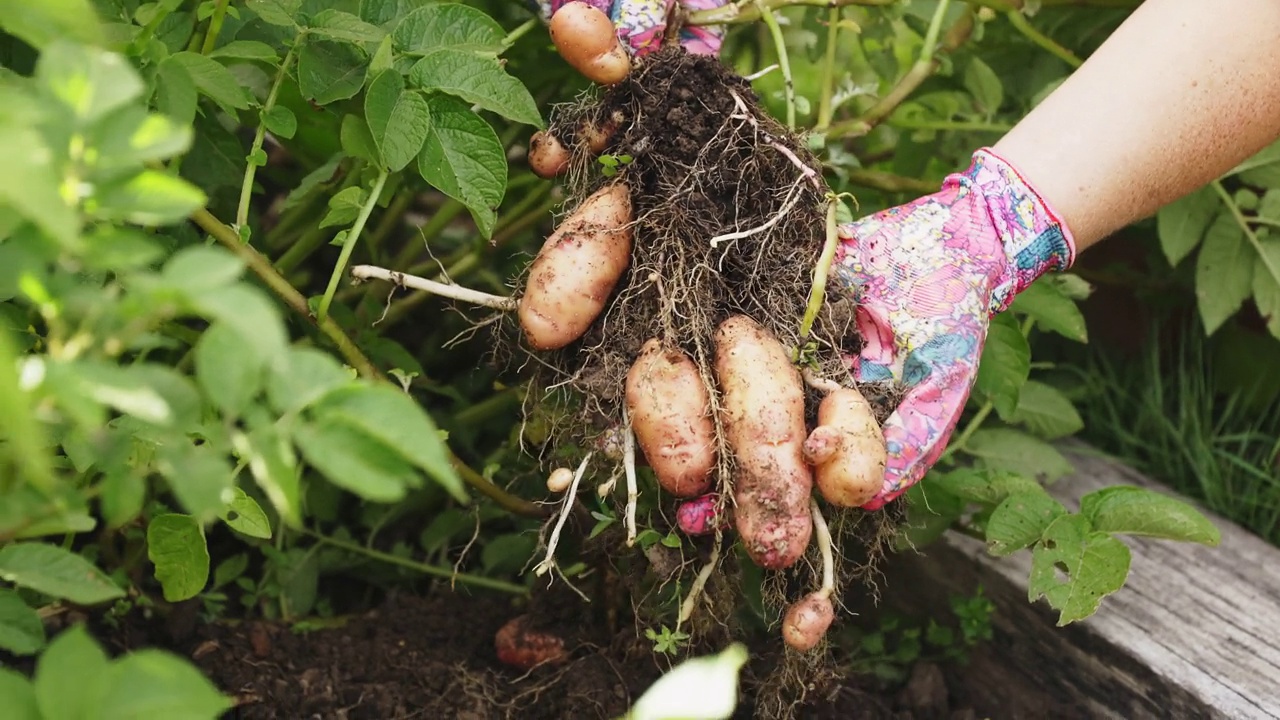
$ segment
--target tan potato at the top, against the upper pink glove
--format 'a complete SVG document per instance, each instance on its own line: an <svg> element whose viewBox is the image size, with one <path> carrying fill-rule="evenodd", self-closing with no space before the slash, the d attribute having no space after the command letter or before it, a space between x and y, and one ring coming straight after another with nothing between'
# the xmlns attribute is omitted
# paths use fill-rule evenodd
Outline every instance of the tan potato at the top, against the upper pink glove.
<svg viewBox="0 0 1280 720"><path fill-rule="evenodd" d="M556 10L548 29L556 50L586 79L617 85L631 73L631 55L613 20L603 12L575 0Z"/></svg>

